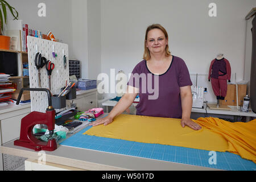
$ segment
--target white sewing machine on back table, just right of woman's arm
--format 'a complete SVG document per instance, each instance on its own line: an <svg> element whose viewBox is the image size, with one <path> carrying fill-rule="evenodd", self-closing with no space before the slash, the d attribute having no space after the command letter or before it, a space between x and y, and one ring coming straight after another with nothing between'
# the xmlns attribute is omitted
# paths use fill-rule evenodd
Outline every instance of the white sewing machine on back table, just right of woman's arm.
<svg viewBox="0 0 256 182"><path fill-rule="evenodd" d="M192 86L192 98L193 98L193 108L204 108L204 88L202 86Z"/></svg>

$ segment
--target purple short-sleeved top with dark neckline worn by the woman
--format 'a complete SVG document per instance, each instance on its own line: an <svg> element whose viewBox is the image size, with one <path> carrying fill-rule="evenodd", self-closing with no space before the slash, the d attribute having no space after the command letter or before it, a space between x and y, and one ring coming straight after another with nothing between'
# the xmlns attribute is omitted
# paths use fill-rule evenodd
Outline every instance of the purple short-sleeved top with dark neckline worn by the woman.
<svg viewBox="0 0 256 182"><path fill-rule="evenodd" d="M172 56L170 67L159 76L151 73L146 60L142 60L133 69L127 85L139 88L137 115L181 118L180 87L192 85L192 82L184 60Z"/></svg>

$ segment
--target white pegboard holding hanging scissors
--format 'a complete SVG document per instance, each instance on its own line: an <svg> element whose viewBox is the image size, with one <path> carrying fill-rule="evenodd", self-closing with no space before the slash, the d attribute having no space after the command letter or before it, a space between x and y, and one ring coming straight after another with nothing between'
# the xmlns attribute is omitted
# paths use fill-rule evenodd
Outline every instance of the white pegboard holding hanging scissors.
<svg viewBox="0 0 256 182"><path fill-rule="evenodd" d="M35 66L36 53L40 52L42 57L46 57L55 64L51 75L51 93L60 94L60 89L65 87L66 81L69 83L69 64L68 64L68 44L53 42L46 39L27 36L28 65L30 73L30 88L49 89L49 78L46 66L40 69L41 87L38 81L38 69ZM53 57L52 52L57 54ZM64 55L67 57L67 68L64 69ZM31 111L46 112L48 107L48 97L46 92L30 92Z"/></svg>

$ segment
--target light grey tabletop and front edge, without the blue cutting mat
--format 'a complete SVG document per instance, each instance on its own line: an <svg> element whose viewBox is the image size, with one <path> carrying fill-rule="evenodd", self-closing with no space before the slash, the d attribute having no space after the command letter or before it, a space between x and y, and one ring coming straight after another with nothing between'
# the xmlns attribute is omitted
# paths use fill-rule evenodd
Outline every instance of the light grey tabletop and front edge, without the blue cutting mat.
<svg viewBox="0 0 256 182"><path fill-rule="evenodd" d="M101 115L104 117L106 114ZM73 134L68 134L67 138ZM62 142L61 140L58 142ZM0 147L3 154L20 156L38 160L39 152L28 148L14 146L13 141ZM45 152L46 162L75 167L85 170L216 170L214 168L193 166L189 164L167 162L150 158L141 158L131 155L114 154L86 148L77 148L59 145L55 151Z"/></svg>

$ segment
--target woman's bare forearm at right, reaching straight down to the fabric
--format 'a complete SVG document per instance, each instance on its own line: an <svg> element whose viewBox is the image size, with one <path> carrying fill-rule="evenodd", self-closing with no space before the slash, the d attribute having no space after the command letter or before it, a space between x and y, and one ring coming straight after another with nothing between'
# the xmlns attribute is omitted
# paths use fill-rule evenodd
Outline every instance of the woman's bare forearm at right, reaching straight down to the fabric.
<svg viewBox="0 0 256 182"><path fill-rule="evenodd" d="M182 118L190 118L192 109L192 94L185 93L181 95Z"/></svg>

